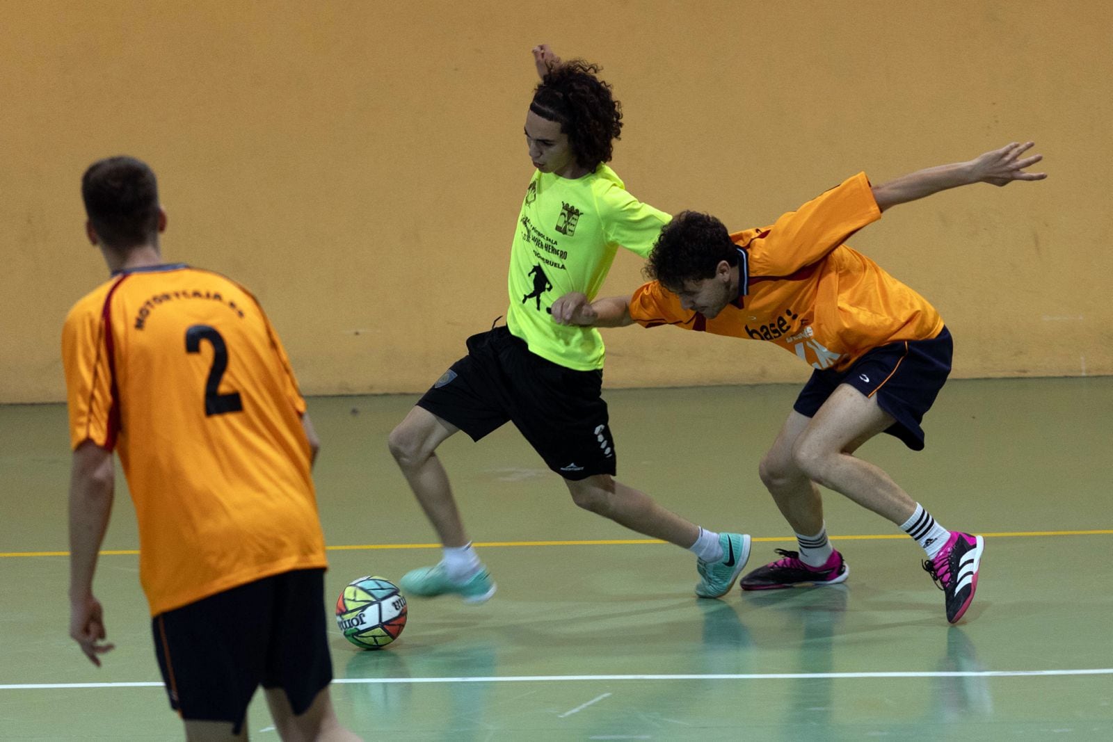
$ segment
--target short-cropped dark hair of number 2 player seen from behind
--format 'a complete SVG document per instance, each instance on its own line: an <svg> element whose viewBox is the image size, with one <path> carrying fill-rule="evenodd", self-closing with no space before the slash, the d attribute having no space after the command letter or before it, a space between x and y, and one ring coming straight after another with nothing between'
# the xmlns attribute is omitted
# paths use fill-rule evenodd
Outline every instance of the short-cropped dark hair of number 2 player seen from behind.
<svg viewBox="0 0 1113 742"><path fill-rule="evenodd" d="M81 176L81 198L93 231L108 247L126 250L158 236L158 182L146 162L109 157Z"/></svg>

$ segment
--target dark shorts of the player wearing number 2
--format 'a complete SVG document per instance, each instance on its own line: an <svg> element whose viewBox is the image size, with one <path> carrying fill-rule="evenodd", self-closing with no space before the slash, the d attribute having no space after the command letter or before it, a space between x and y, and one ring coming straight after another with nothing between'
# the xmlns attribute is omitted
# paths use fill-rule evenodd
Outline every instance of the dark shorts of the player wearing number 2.
<svg viewBox="0 0 1113 742"><path fill-rule="evenodd" d="M262 684L305 713L333 679L324 572L285 572L155 616L170 708L186 721L230 722L238 734Z"/></svg>

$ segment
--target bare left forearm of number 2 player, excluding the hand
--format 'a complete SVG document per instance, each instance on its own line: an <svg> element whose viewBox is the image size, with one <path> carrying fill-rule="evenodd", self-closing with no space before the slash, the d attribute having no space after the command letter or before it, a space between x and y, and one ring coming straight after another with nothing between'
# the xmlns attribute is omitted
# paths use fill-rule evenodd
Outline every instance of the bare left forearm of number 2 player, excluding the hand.
<svg viewBox="0 0 1113 742"><path fill-rule="evenodd" d="M85 446L92 446L90 452ZM112 512L114 476L111 454L92 444L73 452L69 491L70 598L92 592L97 554L105 540ZM107 457L101 455L107 454Z"/></svg>

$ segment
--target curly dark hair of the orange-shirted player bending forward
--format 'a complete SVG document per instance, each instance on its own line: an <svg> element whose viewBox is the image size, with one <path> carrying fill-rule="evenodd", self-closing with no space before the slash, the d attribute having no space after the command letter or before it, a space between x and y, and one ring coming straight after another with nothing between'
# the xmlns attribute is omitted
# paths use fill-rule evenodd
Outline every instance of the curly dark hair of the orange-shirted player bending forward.
<svg viewBox="0 0 1113 742"><path fill-rule="evenodd" d="M738 248L727 227L710 214L681 211L664 225L642 273L670 291L715 276L720 261L738 265Z"/></svg>

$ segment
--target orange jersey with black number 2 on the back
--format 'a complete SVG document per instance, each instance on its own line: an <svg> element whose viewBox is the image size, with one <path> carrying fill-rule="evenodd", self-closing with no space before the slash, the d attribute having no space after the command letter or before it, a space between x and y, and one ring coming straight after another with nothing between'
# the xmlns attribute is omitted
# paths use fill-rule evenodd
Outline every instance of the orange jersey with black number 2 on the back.
<svg viewBox="0 0 1113 742"><path fill-rule="evenodd" d="M70 443L120 455L151 615L326 565L305 400L246 289L184 265L125 271L62 330Z"/></svg>

